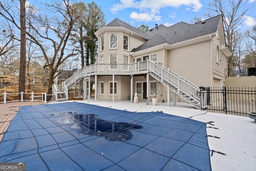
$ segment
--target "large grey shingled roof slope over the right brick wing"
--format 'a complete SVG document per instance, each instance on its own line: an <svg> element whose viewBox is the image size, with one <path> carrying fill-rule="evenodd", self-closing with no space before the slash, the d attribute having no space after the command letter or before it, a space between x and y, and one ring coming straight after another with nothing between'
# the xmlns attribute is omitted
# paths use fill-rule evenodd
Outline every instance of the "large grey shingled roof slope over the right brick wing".
<svg viewBox="0 0 256 171"><path fill-rule="evenodd" d="M160 44L176 44L200 36L215 33L218 29L221 15L205 20L204 22L198 22L196 24L188 24L185 22L179 22L170 27L160 25L157 28L153 28L145 32L149 38L144 44L132 50L132 52L138 52L147 48L152 48Z"/></svg>

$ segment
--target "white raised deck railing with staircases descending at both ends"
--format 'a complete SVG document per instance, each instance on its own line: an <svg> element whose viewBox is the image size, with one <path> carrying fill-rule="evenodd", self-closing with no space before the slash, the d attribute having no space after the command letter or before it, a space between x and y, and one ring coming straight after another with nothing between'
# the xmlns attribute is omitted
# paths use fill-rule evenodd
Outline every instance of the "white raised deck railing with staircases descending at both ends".
<svg viewBox="0 0 256 171"><path fill-rule="evenodd" d="M111 68L111 70L109 68ZM93 64L86 66L68 78L68 80L63 83L62 87L69 89L80 80L87 76L95 76L97 73L101 75L134 75L148 73L176 95L196 107L196 109L200 109L200 89L196 87L196 85L161 64L150 60L133 64Z"/></svg>

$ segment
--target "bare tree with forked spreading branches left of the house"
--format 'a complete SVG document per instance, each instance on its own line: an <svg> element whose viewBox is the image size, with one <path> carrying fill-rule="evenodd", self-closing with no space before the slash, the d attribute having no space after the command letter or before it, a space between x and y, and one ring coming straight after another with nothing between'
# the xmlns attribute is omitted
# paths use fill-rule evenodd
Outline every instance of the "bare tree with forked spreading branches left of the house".
<svg viewBox="0 0 256 171"><path fill-rule="evenodd" d="M80 15L75 12L76 9L69 3L69 0L54 1L52 4L45 5L49 12L56 15L51 18L41 13L31 16L28 20L28 27L36 33L36 36L28 32L27 35L31 42L40 47L46 60L44 69L49 70L48 93L50 94L59 66L68 58L77 55L75 48L68 49L67 45L74 22Z"/></svg>

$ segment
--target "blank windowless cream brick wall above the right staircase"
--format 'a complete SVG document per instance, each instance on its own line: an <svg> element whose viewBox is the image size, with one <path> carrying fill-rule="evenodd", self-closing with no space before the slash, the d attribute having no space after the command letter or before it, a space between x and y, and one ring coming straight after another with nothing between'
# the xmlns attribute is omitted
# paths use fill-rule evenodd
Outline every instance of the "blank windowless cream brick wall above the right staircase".
<svg viewBox="0 0 256 171"><path fill-rule="evenodd" d="M211 83L210 40L168 51L168 68L196 86ZM198 53L200 52L200 53Z"/></svg>

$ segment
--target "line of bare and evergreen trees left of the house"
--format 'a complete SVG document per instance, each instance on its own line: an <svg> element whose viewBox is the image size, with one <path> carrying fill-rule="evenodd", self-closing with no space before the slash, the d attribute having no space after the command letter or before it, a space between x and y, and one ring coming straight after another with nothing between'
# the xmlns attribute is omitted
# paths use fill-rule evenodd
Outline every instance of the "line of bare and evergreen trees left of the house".
<svg viewBox="0 0 256 171"><path fill-rule="evenodd" d="M0 2L0 90L48 89L51 94L62 70L79 68L79 58L82 67L95 62L94 32L106 23L100 7L94 2L52 0L40 8L26 0Z"/></svg>

